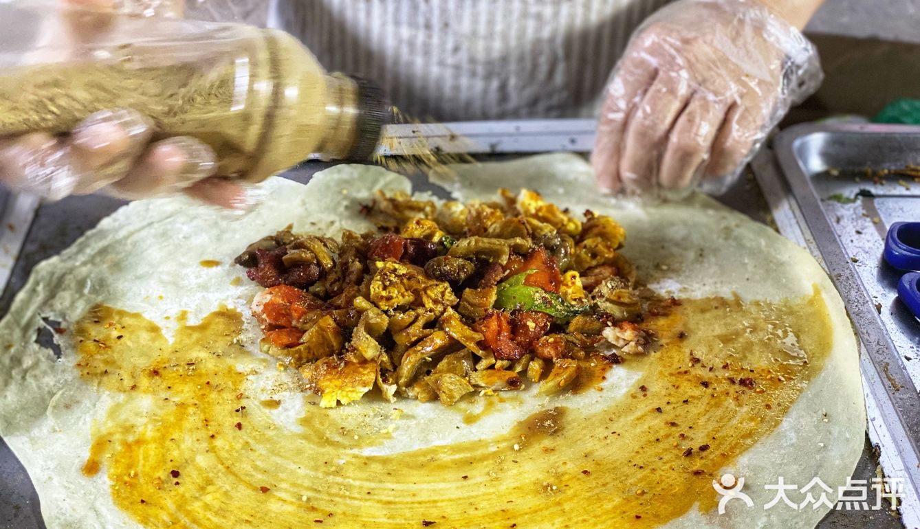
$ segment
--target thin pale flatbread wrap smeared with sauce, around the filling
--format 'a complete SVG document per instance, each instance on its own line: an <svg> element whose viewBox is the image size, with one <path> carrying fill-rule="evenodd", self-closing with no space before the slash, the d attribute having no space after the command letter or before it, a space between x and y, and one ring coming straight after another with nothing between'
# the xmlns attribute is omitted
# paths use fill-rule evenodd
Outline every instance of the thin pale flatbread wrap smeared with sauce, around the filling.
<svg viewBox="0 0 920 529"><path fill-rule="evenodd" d="M598 196L573 155L462 167L445 185L470 200L496 183L624 225L639 280L681 301L650 322L659 351L579 392L320 408L259 352L248 305L260 288L233 259L287 224L373 229L362 204L408 180L364 166L306 186L274 178L242 217L133 202L38 265L0 322L0 433L48 526L817 523L827 505L764 506L779 477L820 477L834 502L863 444L857 344L819 265L702 196L642 208ZM35 342L42 318L61 322L60 359ZM719 514L725 473L753 507Z"/></svg>

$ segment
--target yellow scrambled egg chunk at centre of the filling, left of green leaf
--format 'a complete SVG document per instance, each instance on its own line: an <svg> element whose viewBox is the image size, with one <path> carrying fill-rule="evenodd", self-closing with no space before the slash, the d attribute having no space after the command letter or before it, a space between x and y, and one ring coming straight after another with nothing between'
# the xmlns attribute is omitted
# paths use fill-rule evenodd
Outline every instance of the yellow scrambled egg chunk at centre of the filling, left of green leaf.
<svg viewBox="0 0 920 529"><path fill-rule="evenodd" d="M376 266L370 297L381 310L422 306L441 312L458 301L448 282L431 279L418 267L393 261L377 261Z"/></svg>

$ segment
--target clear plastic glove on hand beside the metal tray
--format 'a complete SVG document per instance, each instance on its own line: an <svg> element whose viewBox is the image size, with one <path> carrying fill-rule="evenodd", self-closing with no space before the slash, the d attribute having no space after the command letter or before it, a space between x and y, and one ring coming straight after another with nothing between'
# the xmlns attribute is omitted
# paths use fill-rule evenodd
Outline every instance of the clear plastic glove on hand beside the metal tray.
<svg viewBox="0 0 920 529"><path fill-rule="evenodd" d="M811 42L757 0L680 0L637 29L607 86L592 165L602 190L726 189L822 81Z"/></svg>

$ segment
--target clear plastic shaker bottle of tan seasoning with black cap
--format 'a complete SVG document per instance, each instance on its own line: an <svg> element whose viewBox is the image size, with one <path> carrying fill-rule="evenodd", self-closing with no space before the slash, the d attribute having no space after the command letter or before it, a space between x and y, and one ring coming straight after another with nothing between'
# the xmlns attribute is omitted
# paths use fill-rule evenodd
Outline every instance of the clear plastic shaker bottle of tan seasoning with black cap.
<svg viewBox="0 0 920 529"><path fill-rule="evenodd" d="M308 155L367 159L389 116L376 86L328 74L283 31L0 2L0 137L118 108L153 120L154 139L200 139L219 174L252 182Z"/></svg>

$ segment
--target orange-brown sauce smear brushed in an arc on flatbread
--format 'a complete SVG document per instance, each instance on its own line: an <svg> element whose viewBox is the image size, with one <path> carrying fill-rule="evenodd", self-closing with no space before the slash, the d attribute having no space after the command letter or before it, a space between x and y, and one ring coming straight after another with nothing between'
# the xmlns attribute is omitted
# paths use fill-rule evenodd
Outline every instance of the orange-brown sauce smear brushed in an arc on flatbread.
<svg viewBox="0 0 920 529"><path fill-rule="evenodd" d="M776 428L833 334L817 289L684 300L651 323L660 351L613 368L642 374L602 413L550 398L489 440L370 455L389 431L311 405L310 427L292 431L247 396L247 374L275 367L236 343L239 313L170 343L144 316L98 306L75 327L76 365L121 400L84 473L104 469L115 504L149 527L653 527L716 506L712 479Z"/></svg>

